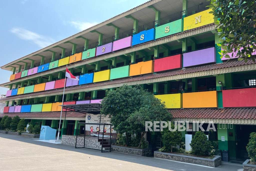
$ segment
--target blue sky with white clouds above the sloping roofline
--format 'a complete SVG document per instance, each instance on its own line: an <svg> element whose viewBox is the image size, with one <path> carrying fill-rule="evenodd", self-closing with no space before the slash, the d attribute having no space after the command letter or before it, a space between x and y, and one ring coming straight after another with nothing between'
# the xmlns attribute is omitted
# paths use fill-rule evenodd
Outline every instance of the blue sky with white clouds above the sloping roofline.
<svg viewBox="0 0 256 171"><path fill-rule="evenodd" d="M3 66L148 0L8 0L0 6ZM11 72L0 70L0 83ZM6 94L0 88L0 94Z"/></svg>

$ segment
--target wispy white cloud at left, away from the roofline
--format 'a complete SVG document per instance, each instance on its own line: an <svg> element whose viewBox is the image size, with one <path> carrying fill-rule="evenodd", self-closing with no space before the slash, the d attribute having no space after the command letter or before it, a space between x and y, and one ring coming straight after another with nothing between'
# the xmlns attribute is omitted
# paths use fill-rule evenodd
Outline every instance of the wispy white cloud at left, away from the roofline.
<svg viewBox="0 0 256 171"><path fill-rule="evenodd" d="M40 48L44 48L55 42L55 40L50 37L43 36L22 28L12 28L10 31L23 40L35 43Z"/></svg>

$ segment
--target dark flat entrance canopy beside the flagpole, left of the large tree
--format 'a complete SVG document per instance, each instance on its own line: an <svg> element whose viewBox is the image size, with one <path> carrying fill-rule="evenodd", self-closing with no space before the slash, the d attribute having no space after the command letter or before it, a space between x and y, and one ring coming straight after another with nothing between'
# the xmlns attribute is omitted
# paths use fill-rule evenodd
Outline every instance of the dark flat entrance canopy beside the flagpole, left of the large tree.
<svg viewBox="0 0 256 171"><path fill-rule="evenodd" d="M77 105L61 105L63 109L76 111L79 113L100 114L100 103L77 104Z"/></svg>

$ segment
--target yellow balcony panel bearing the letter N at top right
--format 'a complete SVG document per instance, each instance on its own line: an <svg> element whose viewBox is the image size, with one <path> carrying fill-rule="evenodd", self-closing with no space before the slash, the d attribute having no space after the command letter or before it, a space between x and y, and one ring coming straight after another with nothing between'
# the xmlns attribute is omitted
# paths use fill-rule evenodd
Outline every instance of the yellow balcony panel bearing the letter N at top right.
<svg viewBox="0 0 256 171"><path fill-rule="evenodd" d="M183 31L194 29L196 27L205 26L214 22L213 14L209 14L211 9L190 15L184 18Z"/></svg>

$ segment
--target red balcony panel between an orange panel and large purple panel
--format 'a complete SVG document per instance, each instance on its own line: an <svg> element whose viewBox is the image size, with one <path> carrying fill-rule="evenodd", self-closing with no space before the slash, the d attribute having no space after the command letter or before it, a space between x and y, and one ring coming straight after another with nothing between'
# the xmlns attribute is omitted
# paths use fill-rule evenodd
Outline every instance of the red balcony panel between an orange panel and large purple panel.
<svg viewBox="0 0 256 171"><path fill-rule="evenodd" d="M155 59L154 72L182 68L181 54Z"/></svg>

